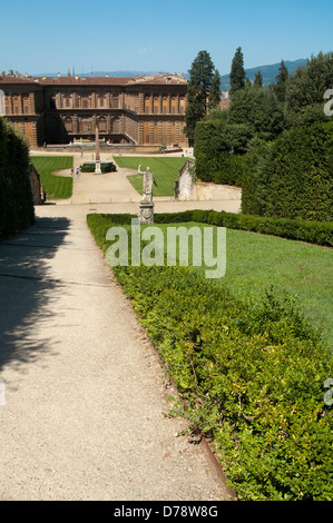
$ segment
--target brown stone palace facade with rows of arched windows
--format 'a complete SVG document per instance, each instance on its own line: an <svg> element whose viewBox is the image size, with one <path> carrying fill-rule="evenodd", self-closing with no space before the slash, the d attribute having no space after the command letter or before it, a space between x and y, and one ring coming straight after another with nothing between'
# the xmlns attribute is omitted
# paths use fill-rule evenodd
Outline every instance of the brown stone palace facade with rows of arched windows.
<svg viewBox="0 0 333 523"><path fill-rule="evenodd" d="M99 137L109 144L187 147L187 80L183 75L144 77L29 77L0 75L6 118L30 146Z"/></svg>

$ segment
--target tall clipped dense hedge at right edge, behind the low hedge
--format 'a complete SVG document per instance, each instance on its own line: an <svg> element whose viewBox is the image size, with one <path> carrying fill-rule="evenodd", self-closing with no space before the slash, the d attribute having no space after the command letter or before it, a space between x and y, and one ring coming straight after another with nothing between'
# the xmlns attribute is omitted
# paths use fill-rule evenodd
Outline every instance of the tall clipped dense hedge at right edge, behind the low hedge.
<svg viewBox="0 0 333 523"><path fill-rule="evenodd" d="M333 122L297 127L266 149L243 180L247 214L332 220Z"/></svg>

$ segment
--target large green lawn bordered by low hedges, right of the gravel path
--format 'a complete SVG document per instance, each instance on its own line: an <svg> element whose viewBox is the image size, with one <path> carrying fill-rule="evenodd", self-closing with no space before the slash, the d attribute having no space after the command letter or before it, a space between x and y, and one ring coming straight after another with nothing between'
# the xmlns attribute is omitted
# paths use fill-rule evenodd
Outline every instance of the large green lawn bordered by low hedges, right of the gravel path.
<svg viewBox="0 0 333 523"><path fill-rule="evenodd" d="M107 215L104 219L106 221L100 221L100 235L105 238ZM155 226L161 228L165 238L167 227L207 227L206 224L197 223ZM130 229L130 226L125 227ZM151 241L154 237L148 243ZM164 250L167 251L166 241ZM189 244L189 265L190 250ZM197 267L203 274L206 268L204 265ZM333 249L227 229L226 274L214 282L216 285L225 285L243 300L261 300L271 286L281 295L287 292L296 298L297 307L311 323L323 329L325 338L333 346Z"/></svg>

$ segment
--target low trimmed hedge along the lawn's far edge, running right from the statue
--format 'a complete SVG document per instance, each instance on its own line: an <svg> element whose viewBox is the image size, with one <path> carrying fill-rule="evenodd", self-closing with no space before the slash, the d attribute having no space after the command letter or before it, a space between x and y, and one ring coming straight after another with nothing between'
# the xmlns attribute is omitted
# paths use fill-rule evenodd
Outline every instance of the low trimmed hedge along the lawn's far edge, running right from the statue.
<svg viewBox="0 0 333 523"><path fill-rule="evenodd" d="M333 247L333 221L311 221L288 218L268 218L254 215L237 215L215 210L186 210L184 213L157 214L157 224L199 221L203 224L251 230Z"/></svg>

